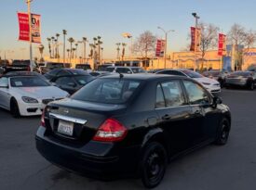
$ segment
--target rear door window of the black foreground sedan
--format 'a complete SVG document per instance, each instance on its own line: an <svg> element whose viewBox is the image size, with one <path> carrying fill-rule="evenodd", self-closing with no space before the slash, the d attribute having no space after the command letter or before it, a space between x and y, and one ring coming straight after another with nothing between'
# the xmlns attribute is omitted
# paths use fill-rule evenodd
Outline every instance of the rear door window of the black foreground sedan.
<svg viewBox="0 0 256 190"><path fill-rule="evenodd" d="M161 84L167 107L179 107L186 104L179 81L163 82Z"/></svg>

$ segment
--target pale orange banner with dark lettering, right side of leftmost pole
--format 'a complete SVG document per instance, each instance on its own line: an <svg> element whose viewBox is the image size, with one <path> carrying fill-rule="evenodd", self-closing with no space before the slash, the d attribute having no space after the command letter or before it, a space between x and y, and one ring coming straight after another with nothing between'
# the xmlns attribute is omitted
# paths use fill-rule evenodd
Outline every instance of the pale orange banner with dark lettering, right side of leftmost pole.
<svg viewBox="0 0 256 190"><path fill-rule="evenodd" d="M32 42L41 44L41 16L31 14Z"/></svg>

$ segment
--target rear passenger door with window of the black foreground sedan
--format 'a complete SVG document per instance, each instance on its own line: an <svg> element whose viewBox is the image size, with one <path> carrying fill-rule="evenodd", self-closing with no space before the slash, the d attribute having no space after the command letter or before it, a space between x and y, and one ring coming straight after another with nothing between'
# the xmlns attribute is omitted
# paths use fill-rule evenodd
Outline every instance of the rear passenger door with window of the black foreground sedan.
<svg viewBox="0 0 256 190"><path fill-rule="evenodd" d="M191 107L186 102L179 80L160 82L156 87L155 111L166 132L171 155L189 147Z"/></svg>

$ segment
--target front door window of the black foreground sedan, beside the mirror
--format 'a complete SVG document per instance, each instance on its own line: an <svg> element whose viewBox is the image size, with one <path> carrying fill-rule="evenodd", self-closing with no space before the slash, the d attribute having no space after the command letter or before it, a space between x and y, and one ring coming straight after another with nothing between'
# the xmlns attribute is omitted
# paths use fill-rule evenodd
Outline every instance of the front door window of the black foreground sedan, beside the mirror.
<svg viewBox="0 0 256 190"><path fill-rule="evenodd" d="M209 103L209 96L206 90L199 84L191 81L183 81L183 83L188 94L190 104L195 105Z"/></svg>

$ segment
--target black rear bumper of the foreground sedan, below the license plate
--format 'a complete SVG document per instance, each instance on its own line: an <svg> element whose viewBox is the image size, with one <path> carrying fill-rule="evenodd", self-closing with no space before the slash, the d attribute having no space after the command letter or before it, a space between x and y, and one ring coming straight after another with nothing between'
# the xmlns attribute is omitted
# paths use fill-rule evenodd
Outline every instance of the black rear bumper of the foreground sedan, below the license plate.
<svg viewBox="0 0 256 190"><path fill-rule="evenodd" d="M48 161L65 170L100 180L112 180L136 173L139 160L136 155L139 155L139 147L126 148L125 151L115 151L118 154L105 156L101 155L102 152L111 152L114 149L113 144L103 145L91 141L88 143L90 147L61 145L42 136L42 128L39 128L35 136L37 150ZM97 151L101 156L96 155Z"/></svg>

